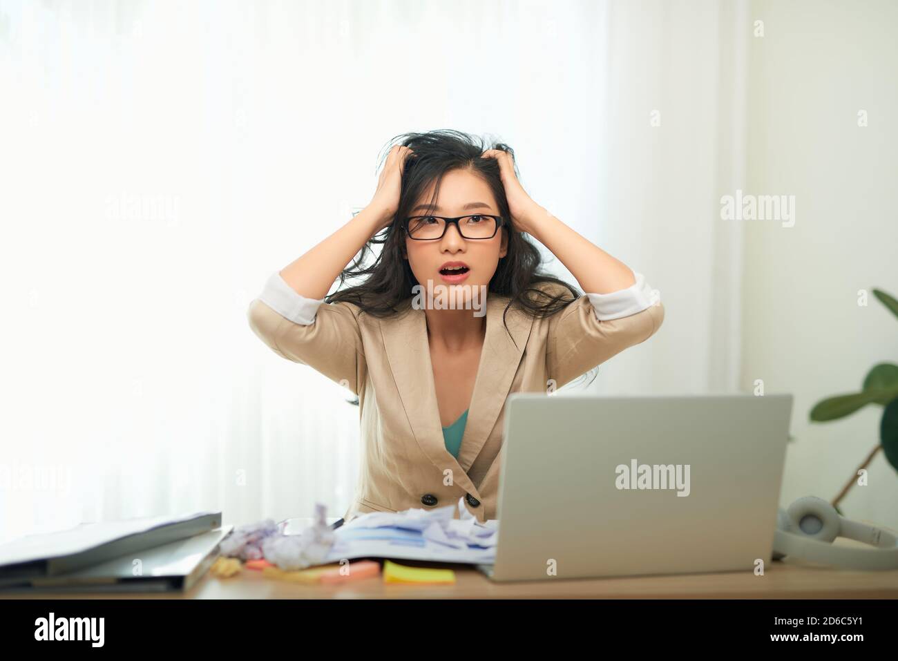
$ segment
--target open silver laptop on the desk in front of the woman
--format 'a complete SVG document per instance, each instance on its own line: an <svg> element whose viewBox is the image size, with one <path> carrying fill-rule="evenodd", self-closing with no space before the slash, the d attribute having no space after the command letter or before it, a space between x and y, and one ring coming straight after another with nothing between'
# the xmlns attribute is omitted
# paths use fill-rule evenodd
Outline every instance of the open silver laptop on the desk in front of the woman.
<svg viewBox="0 0 898 661"><path fill-rule="evenodd" d="M769 564L792 395L506 401L494 581Z"/></svg>

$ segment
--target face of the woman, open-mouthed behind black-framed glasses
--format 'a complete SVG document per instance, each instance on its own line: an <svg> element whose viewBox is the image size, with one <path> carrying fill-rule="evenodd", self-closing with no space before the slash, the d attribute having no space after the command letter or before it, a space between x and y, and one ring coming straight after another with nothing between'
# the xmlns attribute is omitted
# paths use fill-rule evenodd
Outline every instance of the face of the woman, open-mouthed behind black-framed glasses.
<svg viewBox="0 0 898 661"><path fill-rule="evenodd" d="M412 207L409 212L409 216L428 213L448 218L472 216L479 213L489 216L499 215L499 209L489 185L470 171L446 172L440 184L436 207L428 210L427 203L433 196L433 188L434 184L431 184L421 195L416 206ZM418 208L421 205L423 206ZM465 239L459 234L454 223L445 228L442 239L416 241L408 234L405 237L406 259L409 260L411 272L421 286L427 287L427 281L430 280L437 291L453 285L471 287L470 291L474 291L474 287L477 288L477 291L486 291L485 288L481 290L480 286L489 286L489 280L496 272L499 258L506 255L507 244L506 232L501 227L497 229L491 239ZM440 273L440 269L446 262L463 262L468 267L468 271L461 279L458 276L446 277L445 274ZM467 289L467 287L464 288Z"/></svg>

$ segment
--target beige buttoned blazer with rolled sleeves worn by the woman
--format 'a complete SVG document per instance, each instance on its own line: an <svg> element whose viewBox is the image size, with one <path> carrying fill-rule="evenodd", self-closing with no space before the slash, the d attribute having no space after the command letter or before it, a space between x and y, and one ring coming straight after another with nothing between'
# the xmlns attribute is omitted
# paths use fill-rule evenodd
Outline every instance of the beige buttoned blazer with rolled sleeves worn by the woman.
<svg viewBox="0 0 898 661"><path fill-rule="evenodd" d="M425 313L410 298L400 315L385 320L359 316L355 304L321 304L308 324L290 321L261 298L252 301L251 328L278 356L358 395L361 466L347 521L356 513L445 507L459 498L481 522L497 518L506 397L560 388L651 337L665 315L656 301L600 322L583 295L542 320L510 309L509 337L502 320L508 300L487 298L486 338L457 460L445 447Z"/></svg>

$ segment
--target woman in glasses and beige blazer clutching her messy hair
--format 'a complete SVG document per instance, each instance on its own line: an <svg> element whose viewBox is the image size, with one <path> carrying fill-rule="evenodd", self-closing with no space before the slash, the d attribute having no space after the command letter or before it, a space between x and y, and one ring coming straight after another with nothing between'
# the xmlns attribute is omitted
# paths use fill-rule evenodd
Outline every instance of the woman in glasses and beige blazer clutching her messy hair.
<svg viewBox="0 0 898 661"><path fill-rule="evenodd" d="M271 275L250 325L358 396L362 465L345 519L463 498L483 522L497 518L506 397L553 392L648 339L664 308L640 274L527 195L507 145L450 130L400 142L371 203ZM523 233L588 294L540 273ZM374 243L383 250L362 268Z"/></svg>

